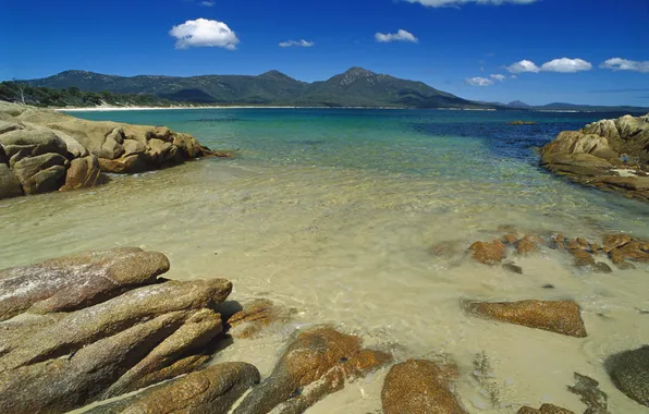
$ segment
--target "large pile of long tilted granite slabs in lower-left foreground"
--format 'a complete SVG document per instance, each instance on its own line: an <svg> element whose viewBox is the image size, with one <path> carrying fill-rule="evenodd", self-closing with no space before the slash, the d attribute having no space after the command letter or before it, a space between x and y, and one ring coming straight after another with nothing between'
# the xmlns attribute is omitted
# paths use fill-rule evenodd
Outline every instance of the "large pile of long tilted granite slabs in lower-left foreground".
<svg viewBox="0 0 649 414"><path fill-rule="evenodd" d="M0 272L2 318L23 314L0 324L0 412L65 412L199 368L232 284L157 279L168 269L124 247Z"/></svg>

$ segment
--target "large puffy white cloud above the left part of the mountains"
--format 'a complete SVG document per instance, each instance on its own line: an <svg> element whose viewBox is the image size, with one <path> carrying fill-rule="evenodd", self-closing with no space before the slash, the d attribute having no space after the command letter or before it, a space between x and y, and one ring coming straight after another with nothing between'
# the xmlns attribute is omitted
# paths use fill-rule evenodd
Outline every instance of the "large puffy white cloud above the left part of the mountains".
<svg viewBox="0 0 649 414"><path fill-rule="evenodd" d="M236 34L225 23L216 20L188 20L173 26L169 34L177 39L176 49L218 47L234 50L238 44Z"/></svg>

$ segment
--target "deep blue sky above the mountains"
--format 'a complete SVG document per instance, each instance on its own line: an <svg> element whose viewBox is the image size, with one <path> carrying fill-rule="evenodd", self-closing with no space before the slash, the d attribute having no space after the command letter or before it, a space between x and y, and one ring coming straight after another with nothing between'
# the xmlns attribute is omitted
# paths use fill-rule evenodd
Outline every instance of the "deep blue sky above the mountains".
<svg viewBox="0 0 649 414"><path fill-rule="evenodd" d="M4 0L0 13L0 80L310 82L363 66L468 99L649 106L649 0Z"/></svg>

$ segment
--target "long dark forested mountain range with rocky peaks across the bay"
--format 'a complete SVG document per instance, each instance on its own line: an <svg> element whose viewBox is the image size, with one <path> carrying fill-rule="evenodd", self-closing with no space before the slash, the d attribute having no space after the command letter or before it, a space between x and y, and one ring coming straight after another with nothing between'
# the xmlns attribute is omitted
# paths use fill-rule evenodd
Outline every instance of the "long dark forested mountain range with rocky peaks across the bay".
<svg viewBox="0 0 649 414"><path fill-rule="evenodd" d="M148 95L175 102L213 105L287 105L317 107L493 108L406 81L352 68L323 82L305 83L281 72L258 76L114 76L65 71L39 80L19 81L33 87L70 88L120 95Z"/></svg>

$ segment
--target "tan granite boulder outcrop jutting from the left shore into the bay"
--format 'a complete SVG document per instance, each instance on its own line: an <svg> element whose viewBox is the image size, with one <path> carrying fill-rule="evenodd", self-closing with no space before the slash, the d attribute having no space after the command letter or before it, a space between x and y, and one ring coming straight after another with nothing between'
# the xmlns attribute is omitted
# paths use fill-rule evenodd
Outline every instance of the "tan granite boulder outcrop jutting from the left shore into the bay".
<svg viewBox="0 0 649 414"><path fill-rule="evenodd" d="M0 199L93 187L106 173L137 173L181 165L211 151L192 135L164 126L96 122L0 102Z"/></svg>

